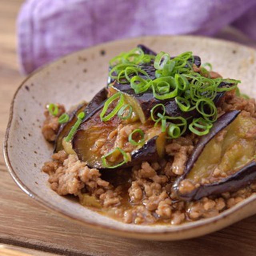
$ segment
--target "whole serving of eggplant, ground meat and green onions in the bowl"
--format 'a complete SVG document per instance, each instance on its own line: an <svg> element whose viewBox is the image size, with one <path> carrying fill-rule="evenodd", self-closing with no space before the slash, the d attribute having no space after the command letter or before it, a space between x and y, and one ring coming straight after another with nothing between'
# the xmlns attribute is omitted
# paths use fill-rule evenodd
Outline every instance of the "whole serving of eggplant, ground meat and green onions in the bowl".
<svg viewBox="0 0 256 256"><path fill-rule="evenodd" d="M192 52L138 45L110 60L89 103L46 106L42 171L59 195L125 223L216 216L256 192L256 104L239 83Z"/></svg>

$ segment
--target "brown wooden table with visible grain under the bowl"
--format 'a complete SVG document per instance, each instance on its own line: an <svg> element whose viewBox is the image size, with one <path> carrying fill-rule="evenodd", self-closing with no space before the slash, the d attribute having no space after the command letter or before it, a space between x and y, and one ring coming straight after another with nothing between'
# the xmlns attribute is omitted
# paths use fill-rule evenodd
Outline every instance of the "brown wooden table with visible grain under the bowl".
<svg viewBox="0 0 256 256"><path fill-rule="evenodd" d="M0 1L0 144L12 96L24 79L18 72L15 18L22 0ZM224 230L178 242L150 242L92 232L26 196L7 172L0 153L0 244L32 255L256 255L256 216ZM32 250L34 249L34 250ZM48 252L48 253L44 253ZM49 254L51 253L51 254ZM0 255L22 255L4 254Z"/></svg>

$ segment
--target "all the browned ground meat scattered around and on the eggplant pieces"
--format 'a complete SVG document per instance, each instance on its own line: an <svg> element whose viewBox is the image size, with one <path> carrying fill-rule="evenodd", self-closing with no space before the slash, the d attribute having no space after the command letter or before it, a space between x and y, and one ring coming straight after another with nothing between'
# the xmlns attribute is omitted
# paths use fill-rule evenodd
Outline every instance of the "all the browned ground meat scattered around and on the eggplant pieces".
<svg viewBox="0 0 256 256"><path fill-rule="evenodd" d="M200 72L200 69L197 72ZM214 72L209 74L212 77L219 76ZM234 91L231 91L226 93L218 107L218 115L235 109L242 110L242 115L256 117L254 100L239 98ZM58 128L53 125L54 122L56 122L54 117L46 113L43 133L48 140L53 140L56 136ZM49 128L50 124L56 130ZM128 147L128 134L133 128L132 125L120 125L109 134L107 140L112 140L116 146ZM221 142L225 135L226 130L219 132L216 136L218 142ZM247 136L255 138L256 128L250 129ZM87 200L83 202L93 201L95 205L100 205L99 208L104 209L104 213L125 223L164 222L178 225L186 221L216 216L256 191L256 182L254 182L236 192L208 196L194 202L179 201L172 190L172 185L176 178L183 174L186 161L197 141L198 136L195 134L170 140L165 148L168 158L153 163L142 162L133 166L131 170L112 170L111 174L89 168L86 163L78 160L76 155L67 155L64 151L54 154L52 161L46 162L42 170L49 174L50 186L58 194L74 194L79 198L84 196L85 199L87 196ZM98 140L95 145L97 150L105 142L106 139ZM104 150L104 146L101 149ZM213 170L215 178L223 177L224 174L218 168ZM202 183L204 182L207 183L209 180L202 179ZM183 180L180 192L189 192L197 185L191 184L189 180Z"/></svg>

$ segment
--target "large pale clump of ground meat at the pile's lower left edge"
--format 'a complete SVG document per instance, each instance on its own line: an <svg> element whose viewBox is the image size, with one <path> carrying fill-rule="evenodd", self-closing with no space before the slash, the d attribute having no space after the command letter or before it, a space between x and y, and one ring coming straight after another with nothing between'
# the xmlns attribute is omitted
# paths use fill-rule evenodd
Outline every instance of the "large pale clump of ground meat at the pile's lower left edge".
<svg viewBox="0 0 256 256"><path fill-rule="evenodd" d="M109 182L100 178L99 170L88 168L76 155L66 155L62 150L54 154L52 159L44 164L42 171L49 174L51 188L58 194L80 195L81 190L86 188L105 207L120 203L120 188L114 189Z"/></svg>

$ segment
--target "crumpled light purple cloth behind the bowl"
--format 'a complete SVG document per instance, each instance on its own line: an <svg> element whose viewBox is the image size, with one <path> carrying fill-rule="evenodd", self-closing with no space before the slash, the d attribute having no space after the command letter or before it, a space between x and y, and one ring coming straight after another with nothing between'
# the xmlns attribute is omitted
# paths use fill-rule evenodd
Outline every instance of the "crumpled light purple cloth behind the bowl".
<svg viewBox="0 0 256 256"><path fill-rule="evenodd" d="M231 24L256 40L256 0L27 0L18 16L21 70L100 42L213 35Z"/></svg>

